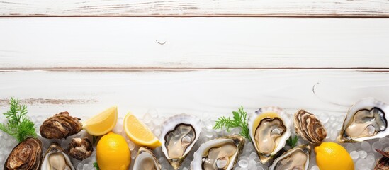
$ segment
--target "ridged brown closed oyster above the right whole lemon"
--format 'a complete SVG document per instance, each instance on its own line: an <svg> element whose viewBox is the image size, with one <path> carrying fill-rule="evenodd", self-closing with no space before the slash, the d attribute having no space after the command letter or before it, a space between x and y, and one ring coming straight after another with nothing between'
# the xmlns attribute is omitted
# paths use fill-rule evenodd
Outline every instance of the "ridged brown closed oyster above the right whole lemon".
<svg viewBox="0 0 389 170"><path fill-rule="evenodd" d="M294 123L296 134L312 144L322 142L327 136L320 120L308 111L300 110L295 113Z"/></svg>

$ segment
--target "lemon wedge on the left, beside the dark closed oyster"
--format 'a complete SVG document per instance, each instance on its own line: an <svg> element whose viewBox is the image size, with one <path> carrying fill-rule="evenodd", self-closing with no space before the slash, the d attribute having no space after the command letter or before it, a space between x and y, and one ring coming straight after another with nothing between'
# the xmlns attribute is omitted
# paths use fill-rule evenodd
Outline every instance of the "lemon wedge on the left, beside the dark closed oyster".
<svg viewBox="0 0 389 170"><path fill-rule="evenodd" d="M82 128L90 135L101 136L110 132L115 127L116 121L118 121L118 107L113 106L86 120Z"/></svg>

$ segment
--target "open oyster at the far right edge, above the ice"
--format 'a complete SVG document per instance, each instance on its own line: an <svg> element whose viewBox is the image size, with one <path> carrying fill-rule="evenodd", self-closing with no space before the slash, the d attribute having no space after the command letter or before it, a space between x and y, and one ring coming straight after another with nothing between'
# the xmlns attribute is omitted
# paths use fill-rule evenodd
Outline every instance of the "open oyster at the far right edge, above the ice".
<svg viewBox="0 0 389 170"><path fill-rule="evenodd" d="M389 107L374 98L362 98L349 109L339 142L362 142L389 135Z"/></svg>

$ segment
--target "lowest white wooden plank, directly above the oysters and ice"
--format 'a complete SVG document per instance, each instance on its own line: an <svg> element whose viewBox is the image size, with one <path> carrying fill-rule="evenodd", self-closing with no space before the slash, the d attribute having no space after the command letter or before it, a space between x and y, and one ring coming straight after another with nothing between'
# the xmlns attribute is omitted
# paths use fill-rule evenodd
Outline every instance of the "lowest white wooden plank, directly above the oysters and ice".
<svg viewBox="0 0 389 170"><path fill-rule="evenodd" d="M120 116L154 108L162 115L190 113L216 118L239 106L252 113L280 106L289 113L345 114L363 97L389 101L389 72L359 70L150 70L147 72L0 72L0 98L48 98L89 103L30 102L32 115L69 111L91 116L118 105ZM33 99L32 99L33 100ZM41 99L37 99L40 101ZM0 111L6 111L1 103Z"/></svg>

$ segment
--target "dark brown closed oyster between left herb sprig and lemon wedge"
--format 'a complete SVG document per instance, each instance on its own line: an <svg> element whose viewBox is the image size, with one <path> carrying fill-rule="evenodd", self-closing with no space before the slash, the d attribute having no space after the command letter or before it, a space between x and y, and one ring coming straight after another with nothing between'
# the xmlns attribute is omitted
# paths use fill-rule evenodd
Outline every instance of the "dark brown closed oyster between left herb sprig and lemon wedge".
<svg viewBox="0 0 389 170"><path fill-rule="evenodd" d="M40 135L47 139L61 139L74 135L82 130L79 120L70 116L68 112L55 114L40 126Z"/></svg>

